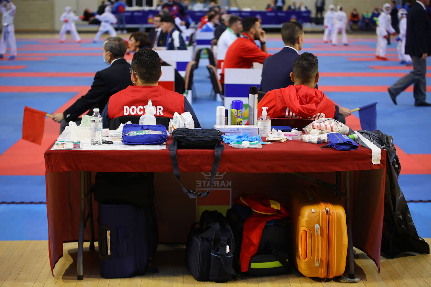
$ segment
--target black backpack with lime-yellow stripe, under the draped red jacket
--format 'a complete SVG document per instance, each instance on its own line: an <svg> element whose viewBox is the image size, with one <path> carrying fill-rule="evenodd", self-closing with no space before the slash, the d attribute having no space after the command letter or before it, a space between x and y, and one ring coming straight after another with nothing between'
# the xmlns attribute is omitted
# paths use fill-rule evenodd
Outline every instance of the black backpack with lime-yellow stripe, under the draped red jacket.
<svg viewBox="0 0 431 287"><path fill-rule="evenodd" d="M250 207L233 204L226 213L229 225L234 232L237 242L237 252L234 262L235 268L240 270L240 250L244 232L244 222L253 213ZM288 247L290 237L288 236L287 220L273 219L266 222L260 238L257 253L251 258L248 274L250 276L272 276L290 272Z"/></svg>

